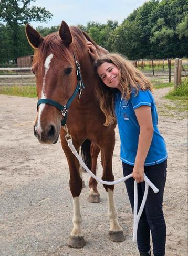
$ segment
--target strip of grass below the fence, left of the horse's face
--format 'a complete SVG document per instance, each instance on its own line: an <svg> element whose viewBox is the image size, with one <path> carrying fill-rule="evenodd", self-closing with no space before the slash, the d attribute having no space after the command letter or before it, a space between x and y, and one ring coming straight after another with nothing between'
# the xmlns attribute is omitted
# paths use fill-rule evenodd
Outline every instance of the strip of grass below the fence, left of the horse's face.
<svg viewBox="0 0 188 256"><path fill-rule="evenodd" d="M2 86L0 87L0 93L21 97L37 97L35 86Z"/></svg>

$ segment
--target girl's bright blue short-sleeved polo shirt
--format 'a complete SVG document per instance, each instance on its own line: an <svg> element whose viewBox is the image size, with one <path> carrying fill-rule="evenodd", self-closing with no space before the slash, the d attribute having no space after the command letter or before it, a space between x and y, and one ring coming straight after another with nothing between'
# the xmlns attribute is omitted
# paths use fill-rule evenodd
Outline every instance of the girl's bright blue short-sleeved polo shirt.
<svg viewBox="0 0 188 256"><path fill-rule="evenodd" d="M136 94L133 90L130 99L125 100L121 97L121 92L118 91L114 97L114 109L121 140L120 158L129 165L134 165L140 134L140 126L134 110L142 105L151 107L154 128L151 146L144 163L144 166L150 166L159 164L168 157L165 141L157 127L158 114L152 93L150 90L139 90Z"/></svg>

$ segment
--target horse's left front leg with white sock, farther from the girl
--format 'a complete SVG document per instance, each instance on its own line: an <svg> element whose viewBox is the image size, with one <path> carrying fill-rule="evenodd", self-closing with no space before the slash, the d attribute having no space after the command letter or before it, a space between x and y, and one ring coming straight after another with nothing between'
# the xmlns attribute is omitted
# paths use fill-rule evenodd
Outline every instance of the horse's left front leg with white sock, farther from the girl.
<svg viewBox="0 0 188 256"><path fill-rule="evenodd" d="M81 213L80 213L80 202L79 196L82 189L82 179L80 178L79 173L79 163L75 156L72 154L70 149L68 148L64 137L61 138L62 148L65 152L65 155L68 160L69 172L70 172L70 180L69 186L70 191L73 197L73 229L70 233L68 245L73 248L82 248L85 245L85 240L83 238L83 232L81 230ZM79 148L76 147L75 148Z"/></svg>

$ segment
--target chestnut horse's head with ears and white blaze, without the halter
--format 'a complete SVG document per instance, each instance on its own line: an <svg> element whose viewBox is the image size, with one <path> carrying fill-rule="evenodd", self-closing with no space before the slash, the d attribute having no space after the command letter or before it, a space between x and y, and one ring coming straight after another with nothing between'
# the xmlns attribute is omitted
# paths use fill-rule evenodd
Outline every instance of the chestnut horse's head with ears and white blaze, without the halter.
<svg viewBox="0 0 188 256"><path fill-rule="evenodd" d="M76 42L69 26L62 21L59 32L41 36L30 25L26 35L35 50L32 69L36 77L38 99L50 99L66 105L77 86L74 54L86 49ZM40 143L53 144L59 137L62 113L55 106L41 103L34 124L34 134Z"/></svg>

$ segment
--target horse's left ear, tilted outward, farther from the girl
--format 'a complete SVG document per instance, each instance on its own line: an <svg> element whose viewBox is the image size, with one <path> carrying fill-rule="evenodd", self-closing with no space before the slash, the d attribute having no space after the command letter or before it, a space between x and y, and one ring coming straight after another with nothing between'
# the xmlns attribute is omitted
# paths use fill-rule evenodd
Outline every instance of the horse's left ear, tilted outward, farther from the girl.
<svg viewBox="0 0 188 256"><path fill-rule="evenodd" d="M33 27L31 27L29 24L27 24L25 27L25 33L30 45L32 45L33 48L38 48L40 43L43 42L43 36L41 36L38 31L33 29Z"/></svg>

